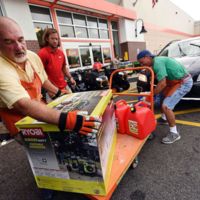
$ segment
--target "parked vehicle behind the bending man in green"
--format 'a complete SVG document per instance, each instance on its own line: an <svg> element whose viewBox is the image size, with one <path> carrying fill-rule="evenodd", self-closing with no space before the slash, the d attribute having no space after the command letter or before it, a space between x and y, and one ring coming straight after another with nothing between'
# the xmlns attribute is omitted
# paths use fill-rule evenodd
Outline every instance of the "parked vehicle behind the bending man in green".
<svg viewBox="0 0 200 200"><path fill-rule="evenodd" d="M181 62L192 75L194 84L183 99L200 99L200 37L172 41L158 54L168 56Z"/></svg>

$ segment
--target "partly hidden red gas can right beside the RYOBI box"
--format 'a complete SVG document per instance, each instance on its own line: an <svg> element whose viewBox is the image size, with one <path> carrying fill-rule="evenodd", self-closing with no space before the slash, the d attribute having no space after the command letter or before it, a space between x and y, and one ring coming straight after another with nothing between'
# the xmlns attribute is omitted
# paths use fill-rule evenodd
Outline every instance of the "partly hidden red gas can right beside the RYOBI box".
<svg viewBox="0 0 200 200"><path fill-rule="evenodd" d="M115 117L117 122L118 133L126 134L126 115L130 110L130 106L125 100L119 100L115 103Z"/></svg>

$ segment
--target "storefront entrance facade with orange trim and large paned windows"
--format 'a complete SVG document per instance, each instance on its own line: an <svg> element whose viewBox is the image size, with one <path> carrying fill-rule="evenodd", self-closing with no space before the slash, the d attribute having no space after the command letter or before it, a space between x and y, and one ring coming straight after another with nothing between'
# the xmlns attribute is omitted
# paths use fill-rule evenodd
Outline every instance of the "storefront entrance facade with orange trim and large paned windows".
<svg viewBox="0 0 200 200"><path fill-rule="evenodd" d="M46 27L56 28L71 70L107 65L119 55L119 20L134 21L136 14L104 0L29 0L32 22L39 42Z"/></svg>

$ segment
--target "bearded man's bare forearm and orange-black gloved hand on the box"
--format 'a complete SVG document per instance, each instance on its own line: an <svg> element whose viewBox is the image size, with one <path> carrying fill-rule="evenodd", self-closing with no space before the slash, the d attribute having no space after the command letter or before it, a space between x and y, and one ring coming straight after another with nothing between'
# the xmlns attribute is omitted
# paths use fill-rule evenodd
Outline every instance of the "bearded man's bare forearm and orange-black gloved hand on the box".
<svg viewBox="0 0 200 200"><path fill-rule="evenodd" d="M78 111L61 113L58 110L47 107L39 101L22 98L14 105L14 108L25 116L30 116L41 122L55 124L61 131L65 129L79 132L80 134L94 134L100 127L101 120L96 117L82 116Z"/></svg>

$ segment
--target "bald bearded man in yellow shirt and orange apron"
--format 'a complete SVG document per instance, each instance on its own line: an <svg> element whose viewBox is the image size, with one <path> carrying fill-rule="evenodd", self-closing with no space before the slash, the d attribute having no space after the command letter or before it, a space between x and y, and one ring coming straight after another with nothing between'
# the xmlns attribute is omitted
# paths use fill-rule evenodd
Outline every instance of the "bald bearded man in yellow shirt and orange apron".
<svg viewBox="0 0 200 200"><path fill-rule="evenodd" d="M11 18L0 17L0 27L0 117L11 137L19 133L15 122L25 116L57 125L60 131L96 133L99 118L79 111L62 113L41 102L42 87L55 98L61 90L48 80L38 55L27 50L19 25Z"/></svg>

